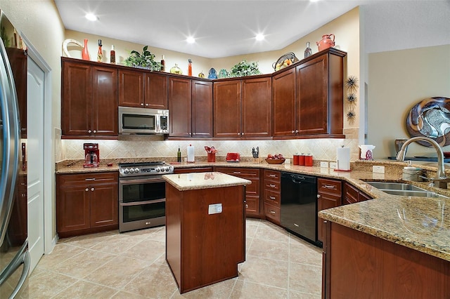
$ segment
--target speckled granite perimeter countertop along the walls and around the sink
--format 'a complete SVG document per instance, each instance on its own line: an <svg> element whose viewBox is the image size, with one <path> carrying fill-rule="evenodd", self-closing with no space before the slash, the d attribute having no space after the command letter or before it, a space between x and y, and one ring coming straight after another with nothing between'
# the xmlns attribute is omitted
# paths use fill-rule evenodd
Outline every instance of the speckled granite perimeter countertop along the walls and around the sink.
<svg viewBox="0 0 450 299"><path fill-rule="evenodd" d="M120 161L129 162L129 160ZM153 159L150 161L158 160ZM101 161L100 167L94 169L83 168L82 160L81 162L68 160L57 165L56 173L89 173L118 170L117 163L119 160L112 161L113 166L106 166L107 162L106 160ZM416 163L413 162L413 164ZM373 173L373 165L386 166L386 173ZM436 163L423 163L413 166L428 171L435 171L435 165ZM365 182L370 180L399 182L401 181L401 168L406 166L406 163L392 160L356 161L355 163L352 162L352 171L349 172L338 172L333 171L331 168L320 168L318 166L266 164L265 161L261 164L252 163L251 161L239 163L195 161L193 164L181 163L173 164L173 166L174 168L227 166L272 169L349 182L375 200L330 208L319 212L321 218L450 261L450 199L395 196L382 192ZM447 176L450 176L448 166L449 164L446 164L446 173ZM205 173L200 175L203 175L201 180L205 180ZM411 183L450 197L450 190L428 187L426 182Z"/></svg>

